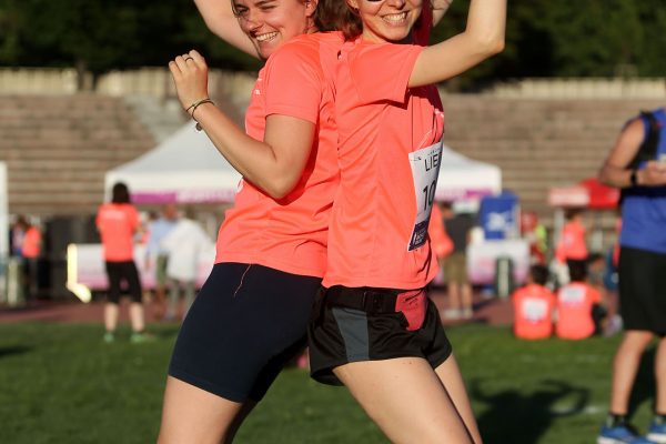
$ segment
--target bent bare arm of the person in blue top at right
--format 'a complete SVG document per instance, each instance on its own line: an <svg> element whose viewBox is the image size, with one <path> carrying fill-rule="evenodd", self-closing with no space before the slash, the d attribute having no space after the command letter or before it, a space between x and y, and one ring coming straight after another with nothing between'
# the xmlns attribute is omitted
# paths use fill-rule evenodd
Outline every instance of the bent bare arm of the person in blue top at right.
<svg viewBox="0 0 666 444"><path fill-rule="evenodd" d="M634 120L624 129L599 171L599 182L615 188L632 185L632 169L628 167L638 153L644 132L642 119ZM636 183L643 186L666 185L666 163L650 160L644 169L636 171Z"/></svg>

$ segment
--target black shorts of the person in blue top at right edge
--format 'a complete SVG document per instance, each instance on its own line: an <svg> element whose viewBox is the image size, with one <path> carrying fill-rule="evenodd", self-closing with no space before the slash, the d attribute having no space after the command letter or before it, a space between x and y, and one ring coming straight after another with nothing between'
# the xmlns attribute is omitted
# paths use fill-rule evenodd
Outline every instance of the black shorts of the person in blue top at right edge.
<svg viewBox="0 0 666 444"><path fill-rule="evenodd" d="M619 311L625 330L666 334L666 254L623 246Z"/></svg>

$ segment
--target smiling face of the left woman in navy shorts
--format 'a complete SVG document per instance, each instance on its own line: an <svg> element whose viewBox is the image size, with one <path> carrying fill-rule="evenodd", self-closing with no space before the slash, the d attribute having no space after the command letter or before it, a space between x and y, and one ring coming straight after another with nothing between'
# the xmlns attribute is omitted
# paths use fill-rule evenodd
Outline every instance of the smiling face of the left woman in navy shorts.
<svg viewBox="0 0 666 444"><path fill-rule="evenodd" d="M285 41L316 31L316 0L232 0L241 29L262 59Z"/></svg>

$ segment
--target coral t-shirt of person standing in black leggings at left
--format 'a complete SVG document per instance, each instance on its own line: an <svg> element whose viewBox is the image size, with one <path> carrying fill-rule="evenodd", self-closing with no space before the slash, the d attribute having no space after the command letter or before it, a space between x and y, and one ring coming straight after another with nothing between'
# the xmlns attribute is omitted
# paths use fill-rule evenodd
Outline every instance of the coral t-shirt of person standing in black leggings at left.
<svg viewBox="0 0 666 444"><path fill-rule="evenodd" d="M95 223L107 262L134 260L133 236L139 228L139 213L134 206L129 203L104 203L98 211Z"/></svg>

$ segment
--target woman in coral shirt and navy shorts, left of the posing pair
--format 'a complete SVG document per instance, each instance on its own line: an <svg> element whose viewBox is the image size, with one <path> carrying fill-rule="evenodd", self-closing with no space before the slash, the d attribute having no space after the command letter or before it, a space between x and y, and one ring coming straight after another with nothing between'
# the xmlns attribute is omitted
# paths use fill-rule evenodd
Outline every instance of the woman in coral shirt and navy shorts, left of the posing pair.
<svg viewBox="0 0 666 444"><path fill-rule="evenodd" d="M340 174L331 73L343 39L320 32L333 1L195 1L211 30L265 60L245 131L209 99L201 54L169 64L183 109L243 179L173 350L161 444L231 442L305 346Z"/></svg>

